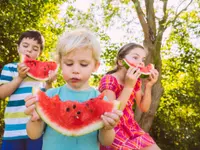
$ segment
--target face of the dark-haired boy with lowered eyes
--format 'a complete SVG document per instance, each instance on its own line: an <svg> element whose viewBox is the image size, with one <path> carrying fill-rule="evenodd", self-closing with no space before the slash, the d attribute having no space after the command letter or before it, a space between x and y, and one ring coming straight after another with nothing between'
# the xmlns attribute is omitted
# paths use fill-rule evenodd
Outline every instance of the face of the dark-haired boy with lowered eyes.
<svg viewBox="0 0 200 150"><path fill-rule="evenodd" d="M19 54L36 59L41 52L40 44L34 39L23 38L20 45L18 45L18 52Z"/></svg>

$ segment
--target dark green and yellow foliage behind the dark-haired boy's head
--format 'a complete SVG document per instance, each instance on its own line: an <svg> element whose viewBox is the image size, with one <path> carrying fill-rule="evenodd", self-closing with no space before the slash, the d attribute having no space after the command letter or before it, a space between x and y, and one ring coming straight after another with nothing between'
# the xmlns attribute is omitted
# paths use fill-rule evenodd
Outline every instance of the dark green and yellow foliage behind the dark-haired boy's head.
<svg viewBox="0 0 200 150"><path fill-rule="evenodd" d="M64 23L58 18L61 0L0 0L0 72L10 62L19 61L17 40L25 30L39 30L45 38L40 59L47 60L55 48ZM0 134L6 100L0 100ZM1 142L0 142L1 143Z"/></svg>

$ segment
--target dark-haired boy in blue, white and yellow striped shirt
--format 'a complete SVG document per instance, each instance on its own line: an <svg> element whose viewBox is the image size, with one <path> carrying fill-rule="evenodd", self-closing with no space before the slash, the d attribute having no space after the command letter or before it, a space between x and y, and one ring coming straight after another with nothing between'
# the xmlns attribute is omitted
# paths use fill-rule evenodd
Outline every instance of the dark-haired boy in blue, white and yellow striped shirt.
<svg viewBox="0 0 200 150"><path fill-rule="evenodd" d="M17 49L20 55L36 59L44 47L44 38L38 31L26 31L21 34ZM32 87L43 88L43 83L27 77L29 68L23 63L9 63L3 67L0 76L0 99L9 97L5 109L5 129L2 150L40 150L41 138L31 140L26 133L29 116L24 114L25 97L32 93ZM51 87L51 82L46 87Z"/></svg>

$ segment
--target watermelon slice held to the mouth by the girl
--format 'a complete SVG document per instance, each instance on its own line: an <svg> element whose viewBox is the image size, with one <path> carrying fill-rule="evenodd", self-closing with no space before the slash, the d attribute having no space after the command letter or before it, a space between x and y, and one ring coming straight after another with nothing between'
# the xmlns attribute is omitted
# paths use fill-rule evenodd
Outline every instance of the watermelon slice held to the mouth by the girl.
<svg viewBox="0 0 200 150"><path fill-rule="evenodd" d="M132 67L136 67L135 64L128 62L127 59L123 59L123 65L125 66L126 69L128 69L130 66ZM148 64L146 67L139 67L140 71L141 71L141 75L140 78L148 78L149 75L151 74L150 70L154 69L154 65L153 64Z"/></svg>

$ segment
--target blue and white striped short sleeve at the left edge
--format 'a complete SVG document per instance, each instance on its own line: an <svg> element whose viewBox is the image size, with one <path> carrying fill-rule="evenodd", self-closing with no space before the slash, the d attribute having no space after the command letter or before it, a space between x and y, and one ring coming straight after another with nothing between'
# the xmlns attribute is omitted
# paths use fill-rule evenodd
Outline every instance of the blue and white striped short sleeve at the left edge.
<svg viewBox="0 0 200 150"><path fill-rule="evenodd" d="M17 72L17 68L13 64L5 65L0 75L0 85L12 81L14 72Z"/></svg>

